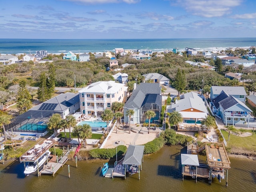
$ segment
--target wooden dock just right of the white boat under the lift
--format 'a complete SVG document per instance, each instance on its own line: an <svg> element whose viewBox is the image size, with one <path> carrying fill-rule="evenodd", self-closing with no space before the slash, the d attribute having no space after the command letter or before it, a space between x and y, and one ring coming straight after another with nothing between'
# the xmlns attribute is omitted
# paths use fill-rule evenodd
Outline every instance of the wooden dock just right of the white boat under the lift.
<svg viewBox="0 0 256 192"><path fill-rule="evenodd" d="M68 161L68 154L71 150L68 150L64 156L62 156L58 162L55 162L54 159L56 160L56 158L53 157L52 160L50 160L48 162L48 164L46 164L42 170L39 172L39 175L41 176L41 174L52 174L54 176L54 174L61 168L63 167L63 165Z"/></svg>

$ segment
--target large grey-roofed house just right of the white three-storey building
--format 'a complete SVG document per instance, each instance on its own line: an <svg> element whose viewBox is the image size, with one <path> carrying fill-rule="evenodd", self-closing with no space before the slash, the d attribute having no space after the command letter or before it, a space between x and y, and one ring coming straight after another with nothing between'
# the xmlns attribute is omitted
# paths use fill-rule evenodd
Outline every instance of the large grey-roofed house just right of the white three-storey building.
<svg viewBox="0 0 256 192"><path fill-rule="evenodd" d="M162 109L161 87L159 83L140 83L134 84L132 95L124 105L124 114L126 111L134 110L131 117L132 124L147 122L144 112L153 110L156 113L150 122L158 122ZM124 116L124 122L129 122L128 116Z"/></svg>

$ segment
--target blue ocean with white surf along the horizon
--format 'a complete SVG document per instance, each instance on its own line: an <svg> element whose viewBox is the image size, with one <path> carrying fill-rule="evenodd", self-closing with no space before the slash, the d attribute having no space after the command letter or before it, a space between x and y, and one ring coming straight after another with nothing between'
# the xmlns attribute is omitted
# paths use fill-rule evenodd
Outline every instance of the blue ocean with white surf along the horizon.
<svg viewBox="0 0 256 192"><path fill-rule="evenodd" d="M113 51L115 48L150 49L154 52L179 48L198 51L225 50L228 47L250 48L256 38L195 38L195 39L0 39L0 54L35 54L38 50L48 53L88 53Z"/></svg>

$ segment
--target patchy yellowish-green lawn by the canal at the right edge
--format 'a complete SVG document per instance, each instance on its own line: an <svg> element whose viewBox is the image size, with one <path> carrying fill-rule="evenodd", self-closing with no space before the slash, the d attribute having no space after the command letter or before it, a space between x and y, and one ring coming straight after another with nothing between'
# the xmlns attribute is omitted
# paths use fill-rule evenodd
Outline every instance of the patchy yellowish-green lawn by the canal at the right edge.
<svg viewBox="0 0 256 192"><path fill-rule="evenodd" d="M256 148L256 130L254 135L248 137L240 137L234 134L230 134L230 140L228 141L228 132L221 130L224 138L226 139L227 146L231 148L242 148L244 150L254 151ZM246 130L246 132L252 133L252 130Z"/></svg>

